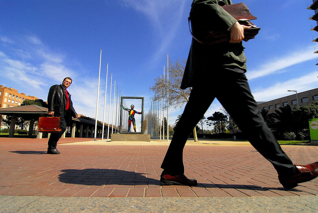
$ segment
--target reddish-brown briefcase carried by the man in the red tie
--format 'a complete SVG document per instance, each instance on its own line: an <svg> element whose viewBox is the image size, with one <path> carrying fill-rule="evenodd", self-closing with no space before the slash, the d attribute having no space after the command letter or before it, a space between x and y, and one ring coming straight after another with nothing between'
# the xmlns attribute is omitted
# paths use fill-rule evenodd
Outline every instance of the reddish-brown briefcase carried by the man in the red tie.
<svg viewBox="0 0 318 213"><path fill-rule="evenodd" d="M60 117L40 117L38 122L38 131L55 133L61 131Z"/></svg>

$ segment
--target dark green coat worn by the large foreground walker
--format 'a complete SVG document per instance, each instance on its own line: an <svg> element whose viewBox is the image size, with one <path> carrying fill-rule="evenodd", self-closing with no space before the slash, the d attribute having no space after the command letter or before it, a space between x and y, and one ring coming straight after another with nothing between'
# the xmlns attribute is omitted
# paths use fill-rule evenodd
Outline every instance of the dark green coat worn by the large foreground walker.
<svg viewBox="0 0 318 213"><path fill-rule="evenodd" d="M191 26L199 39L204 32L225 31L237 21L221 6L232 4L231 0L194 0L191 5ZM200 44L192 39L190 53L185 67L181 89L209 82L217 72L230 68L246 72L246 57L242 42L223 42L214 45Z"/></svg>

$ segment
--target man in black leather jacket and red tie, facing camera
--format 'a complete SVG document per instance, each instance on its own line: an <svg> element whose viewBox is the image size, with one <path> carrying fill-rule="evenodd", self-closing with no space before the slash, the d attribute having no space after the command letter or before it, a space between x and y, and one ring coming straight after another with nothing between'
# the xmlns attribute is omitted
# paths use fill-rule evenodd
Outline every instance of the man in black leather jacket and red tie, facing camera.
<svg viewBox="0 0 318 213"><path fill-rule="evenodd" d="M60 117L60 127L62 131L57 133L51 133L48 141L48 154L59 154L60 152L56 149L59 138L63 135L66 130L67 124L72 120L72 116L77 118L78 115L73 108L71 101L71 94L67 92L67 88L71 85L72 79L70 77L64 78L62 84L53 85L47 96L48 114Z"/></svg>

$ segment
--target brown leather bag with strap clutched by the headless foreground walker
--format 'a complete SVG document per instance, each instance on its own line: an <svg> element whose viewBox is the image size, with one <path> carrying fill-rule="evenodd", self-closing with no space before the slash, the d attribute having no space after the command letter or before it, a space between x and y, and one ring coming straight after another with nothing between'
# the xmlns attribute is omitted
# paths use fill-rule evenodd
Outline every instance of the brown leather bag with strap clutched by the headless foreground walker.
<svg viewBox="0 0 318 213"><path fill-rule="evenodd" d="M254 37L258 34L260 28L256 27L249 20L254 20L257 17L253 16L248 9L248 7L244 3L238 4L229 4L224 5L222 8L230 13L233 18L239 21L241 25L252 26L252 28L244 30L244 39L243 41L248 41L249 39L254 39ZM191 16L191 14L190 14ZM190 28L190 17L189 17L189 28ZM191 30L190 30L191 32ZM197 39L193 33L191 32L193 39L201 44L217 44L230 40L230 31L209 31L206 33L206 37L204 40Z"/></svg>

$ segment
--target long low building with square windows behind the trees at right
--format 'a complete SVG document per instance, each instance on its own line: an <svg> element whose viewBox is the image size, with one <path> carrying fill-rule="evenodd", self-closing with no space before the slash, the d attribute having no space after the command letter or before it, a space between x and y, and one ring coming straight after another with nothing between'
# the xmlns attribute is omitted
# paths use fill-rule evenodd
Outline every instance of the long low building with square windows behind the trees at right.
<svg viewBox="0 0 318 213"><path fill-rule="evenodd" d="M308 106L309 104L318 101L318 88L307 90L304 92L296 93L281 98L277 98L266 102L257 102L259 110L268 110L268 113L273 113L278 110L279 107L290 105L292 109L297 106Z"/></svg>

